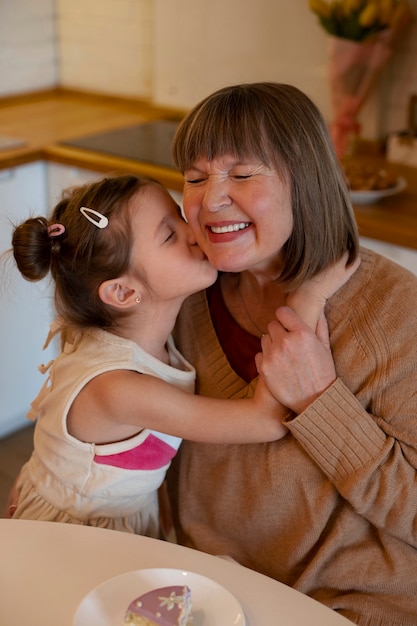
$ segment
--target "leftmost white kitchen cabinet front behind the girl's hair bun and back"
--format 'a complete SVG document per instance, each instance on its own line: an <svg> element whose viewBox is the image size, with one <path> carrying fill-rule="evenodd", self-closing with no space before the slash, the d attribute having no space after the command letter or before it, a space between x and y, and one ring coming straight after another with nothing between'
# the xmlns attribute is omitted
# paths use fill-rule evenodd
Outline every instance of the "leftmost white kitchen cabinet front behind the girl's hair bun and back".
<svg viewBox="0 0 417 626"><path fill-rule="evenodd" d="M0 171L0 253L11 247L13 225L46 208L46 164L30 163ZM42 346L53 318L52 291L47 280L25 281L13 259L2 256L0 299L0 437L26 425L25 415L47 362Z"/></svg>

